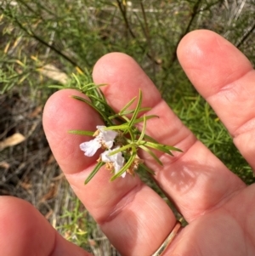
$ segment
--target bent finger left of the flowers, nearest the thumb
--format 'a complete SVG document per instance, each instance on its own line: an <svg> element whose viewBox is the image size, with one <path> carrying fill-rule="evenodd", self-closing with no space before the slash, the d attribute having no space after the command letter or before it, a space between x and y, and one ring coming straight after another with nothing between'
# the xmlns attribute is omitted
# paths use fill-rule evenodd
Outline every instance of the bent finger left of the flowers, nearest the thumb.
<svg viewBox="0 0 255 256"><path fill-rule="evenodd" d="M173 229L175 217L167 203L137 176L126 175L110 182L111 174L101 168L84 185L99 154L94 159L84 156L79 145L89 138L67 132L93 131L102 121L88 105L72 99L75 94L84 97L75 90L62 90L44 107L43 128L54 156L77 196L118 251L122 255L150 255Z"/></svg>

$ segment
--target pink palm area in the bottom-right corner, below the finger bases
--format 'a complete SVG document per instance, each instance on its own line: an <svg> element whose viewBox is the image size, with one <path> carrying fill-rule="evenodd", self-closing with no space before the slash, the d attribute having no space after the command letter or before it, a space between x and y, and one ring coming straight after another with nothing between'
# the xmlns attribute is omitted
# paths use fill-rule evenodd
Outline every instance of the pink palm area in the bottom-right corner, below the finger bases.
<svg viewBox="0 0 255 256"><path fill-rule="evenodd" d="M254 255L255 186L231 196L222 206L185 227L169 255Z"/></svg>

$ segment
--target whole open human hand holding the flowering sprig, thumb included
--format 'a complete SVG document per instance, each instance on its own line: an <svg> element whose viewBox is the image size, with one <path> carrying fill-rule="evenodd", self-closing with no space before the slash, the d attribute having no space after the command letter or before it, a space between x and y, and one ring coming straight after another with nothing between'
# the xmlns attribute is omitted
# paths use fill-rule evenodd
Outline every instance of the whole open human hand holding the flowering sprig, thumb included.
<svg viewBox="0 0 255 256"><path fill-rule="evenodd" d="M193 31L178 46L178 60L190 81L212 105L234 138L236 147L255 168L255 72L233 45L212 31ZM189 222L163 255L255 255L255 185L246 185L213 156L161 100L150 79L125 54L107 54L94 67L94 82L120 110L143 92L143 105L160 118L147 122L146 132L159 142L182 149L161 156L159 168L150 158L161 186ZM98 156L83 156L84 136L71 129L94 130L102 124L96 113L72 99L77 91L62 90L45 105L43 126L60 168L82 203L122 255L153 254L173 230L176 219L160 196L138 176L109 182L104 168L88 185L84 180ZM143 156L147 157L147 156ZM66 242L28 203L11 197L0 200L0 247L3 255L90 255ZM9 216L12 216L9 219ZM7 235L6 235L7 234Z"/></svg>

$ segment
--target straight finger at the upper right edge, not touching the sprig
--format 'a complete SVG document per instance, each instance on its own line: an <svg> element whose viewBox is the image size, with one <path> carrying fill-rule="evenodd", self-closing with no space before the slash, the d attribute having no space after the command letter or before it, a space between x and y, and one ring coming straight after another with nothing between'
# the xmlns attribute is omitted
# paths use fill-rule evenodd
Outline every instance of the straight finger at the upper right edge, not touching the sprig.
<svg viewBox="0 0 255 256"><path fill-rule="evenodd" d="M194 31L178 59L195 88L224 122L241 154L255 169L255 71L244 54L212 31ZM202 64L202 65L201 65Z"/></svg>

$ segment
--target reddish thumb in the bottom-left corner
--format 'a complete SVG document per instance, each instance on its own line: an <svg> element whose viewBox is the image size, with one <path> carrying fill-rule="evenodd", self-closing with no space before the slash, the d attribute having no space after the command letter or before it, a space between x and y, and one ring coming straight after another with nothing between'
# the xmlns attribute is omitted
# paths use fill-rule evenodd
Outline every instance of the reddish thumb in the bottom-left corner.
<svg viewBox="0 0 255 256"><path fill-rule="evenodd" d="M1 255L91 255L65 241L28 202L0 196L0 208Z"/></svg>

